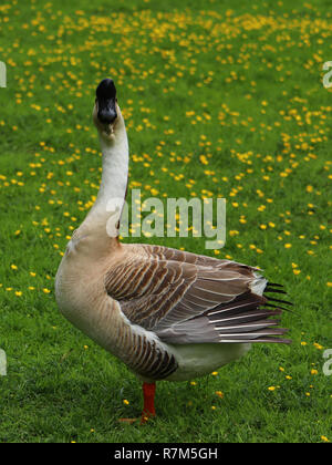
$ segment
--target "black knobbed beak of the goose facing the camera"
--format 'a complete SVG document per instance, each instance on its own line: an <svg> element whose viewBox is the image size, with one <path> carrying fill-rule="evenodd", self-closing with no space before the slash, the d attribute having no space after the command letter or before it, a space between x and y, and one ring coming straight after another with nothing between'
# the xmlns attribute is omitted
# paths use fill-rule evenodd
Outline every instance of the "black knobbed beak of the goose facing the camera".
<svg viewBox="0 0 332 465"><path fill-rule="evenodd" d="M96 89L97 117L101 123L112 124L116 120L116 89L112 79L104 79Z"/></svg>

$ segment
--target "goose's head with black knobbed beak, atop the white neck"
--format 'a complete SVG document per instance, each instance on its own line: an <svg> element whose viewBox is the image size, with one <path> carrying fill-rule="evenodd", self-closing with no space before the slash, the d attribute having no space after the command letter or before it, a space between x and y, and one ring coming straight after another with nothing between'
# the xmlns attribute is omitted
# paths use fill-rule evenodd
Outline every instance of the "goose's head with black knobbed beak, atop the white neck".
<svg viewBox="0 0 332 465"><path fill-rule="evenodd" d="M93 121L100 135L108 142L116 136L116 130L122 120L117 105L116 89L112 79L104 79L96 89Z"/></svg>

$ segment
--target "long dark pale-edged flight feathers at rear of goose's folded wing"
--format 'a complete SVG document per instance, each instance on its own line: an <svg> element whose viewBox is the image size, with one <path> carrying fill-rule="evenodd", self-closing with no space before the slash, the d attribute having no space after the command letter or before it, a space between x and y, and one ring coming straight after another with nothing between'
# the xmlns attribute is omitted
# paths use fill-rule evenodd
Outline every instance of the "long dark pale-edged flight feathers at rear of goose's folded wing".
<svg viewBox="0 0 332 465"><path fill-rule="evenodd" d="M273 285L278 288L279 285ZM283 338L288 331L279 328L279 319L286 307L269 303L288 304L286 300L271 299L264 294L267 280L255 276L250 290L239 294L228 303L220 303L199 317L172 324L157 331L157 335L167 343L291 343ZM273 289L273 288L272 288ZM269 285L269 291L272 291ZM282 291L283 292L283 291Z"/></svg>

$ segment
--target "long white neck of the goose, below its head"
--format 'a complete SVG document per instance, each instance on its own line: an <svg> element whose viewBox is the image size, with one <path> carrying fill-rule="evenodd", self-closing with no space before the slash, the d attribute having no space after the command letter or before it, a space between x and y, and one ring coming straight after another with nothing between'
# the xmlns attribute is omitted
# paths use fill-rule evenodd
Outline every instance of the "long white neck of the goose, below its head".
<svg viewBox="0 0 332 465"><path fill-rule="evenodd" d="M87 214L83 225L90 224L98 228L110 228L114 221L114 213L122 211L125 202L128 179L128 140L124 121L121 117L112 141L100 134L103 154L102 182L97 198ZM113 217L110 223L110 218ZM117 218L120 219L120 218ZM82 226L83 226L82 225ZM110 231L108 231L110 235Z"/></svg>

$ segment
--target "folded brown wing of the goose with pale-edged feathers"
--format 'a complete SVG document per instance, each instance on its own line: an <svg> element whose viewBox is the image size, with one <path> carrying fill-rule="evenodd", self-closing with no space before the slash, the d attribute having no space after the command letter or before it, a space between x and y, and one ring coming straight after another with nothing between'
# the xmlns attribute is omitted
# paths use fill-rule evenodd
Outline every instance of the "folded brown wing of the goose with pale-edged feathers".
<svg viewBox="0 0 332 465"><path fill-rule="evenodd" d="M126 318L167 343L289 342L257 269L158 246L128 246L105 276ZM256 292L257 291L257 292Z"/></svg>

